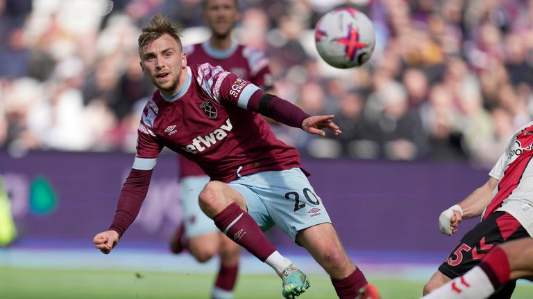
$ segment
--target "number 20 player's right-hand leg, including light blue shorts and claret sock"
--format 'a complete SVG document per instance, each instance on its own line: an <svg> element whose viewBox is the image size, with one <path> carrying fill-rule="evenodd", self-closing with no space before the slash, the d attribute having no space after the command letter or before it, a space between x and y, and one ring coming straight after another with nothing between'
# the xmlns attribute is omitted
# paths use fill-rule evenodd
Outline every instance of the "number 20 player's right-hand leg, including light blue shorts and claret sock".
<svg viewBox="0 0 533 299"><path fill-rule="evenodd" d="M339 297L356 298L367 285L341 246L328 212L307 177L298 168L282 172L265 172L239 179L253 183L269 217L291 239L312 254L332 277ZM251 210L259 210L250 206ZM364 298L364 297L360 297Z"/></svg>

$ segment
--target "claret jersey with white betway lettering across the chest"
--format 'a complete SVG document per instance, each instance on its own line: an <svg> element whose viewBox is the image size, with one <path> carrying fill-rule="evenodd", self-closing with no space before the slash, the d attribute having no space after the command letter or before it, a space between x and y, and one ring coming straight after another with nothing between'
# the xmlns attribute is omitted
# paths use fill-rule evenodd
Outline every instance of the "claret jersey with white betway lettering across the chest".
<svg viewBox="0 0 533 299"><path fill-rule="evenodd" d="M247 110L259 87L208 63L185 71L187 80L176 95L155 91L146 103L133 168L152 169L163 147L217 181L301 167L296 149L279 141L260 114Z"/></svg>

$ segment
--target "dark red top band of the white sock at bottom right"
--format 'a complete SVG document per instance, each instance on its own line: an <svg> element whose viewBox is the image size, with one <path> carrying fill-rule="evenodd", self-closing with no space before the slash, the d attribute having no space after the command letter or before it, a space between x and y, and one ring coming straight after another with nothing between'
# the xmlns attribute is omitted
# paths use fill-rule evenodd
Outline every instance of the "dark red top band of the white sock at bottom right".
<svg viewBox="0 0 533 299"><path fill-rule="evenodd" d="M502 284L509 282L511 279L511 268L509 266L509 257L505 251L495 246L480 263L481 269L491 280L494 289L498 289Z"/></svg>

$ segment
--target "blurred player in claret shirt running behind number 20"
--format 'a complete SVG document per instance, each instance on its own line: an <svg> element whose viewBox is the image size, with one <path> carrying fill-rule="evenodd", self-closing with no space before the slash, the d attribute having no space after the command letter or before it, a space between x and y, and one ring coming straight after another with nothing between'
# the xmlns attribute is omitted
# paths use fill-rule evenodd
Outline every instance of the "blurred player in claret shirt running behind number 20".
<svg viewBox="0 0 533 299"><path fill-rule="evenodd" d="M240 17L237 0L205 0L203 17L212 35L201 44L183 47L187 63L208 62L252 82L264 91L272 89L269 62L264 53L239 45L232 39L232 28ZM240 246L221 233L198 206L198 194L208 183L209 176L184 156L178 155L178 160L184 221L171 239L171 251L180 253L187 247L199 262L206 262L219 254L220 268L212 298L233 298Z"/></svg>

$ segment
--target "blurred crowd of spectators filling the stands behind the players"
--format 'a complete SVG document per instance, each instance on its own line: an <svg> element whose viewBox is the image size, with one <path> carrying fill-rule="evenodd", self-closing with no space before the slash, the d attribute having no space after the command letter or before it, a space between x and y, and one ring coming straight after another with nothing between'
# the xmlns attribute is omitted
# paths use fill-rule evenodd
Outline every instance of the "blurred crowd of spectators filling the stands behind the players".
<svg viewBox="0 0 533 299"><path fill-rule="evenodd" d="M375 53L338 70L316 55L329 10L369 15ZM344 132L273 126L320 158L470 161L491 167L533 115L533 0L242 0L235 38L264 50L276 92ZM0 0L0 147L133 151L146 97L137 37L155 13L208 38L201 0Z"/></svg>

